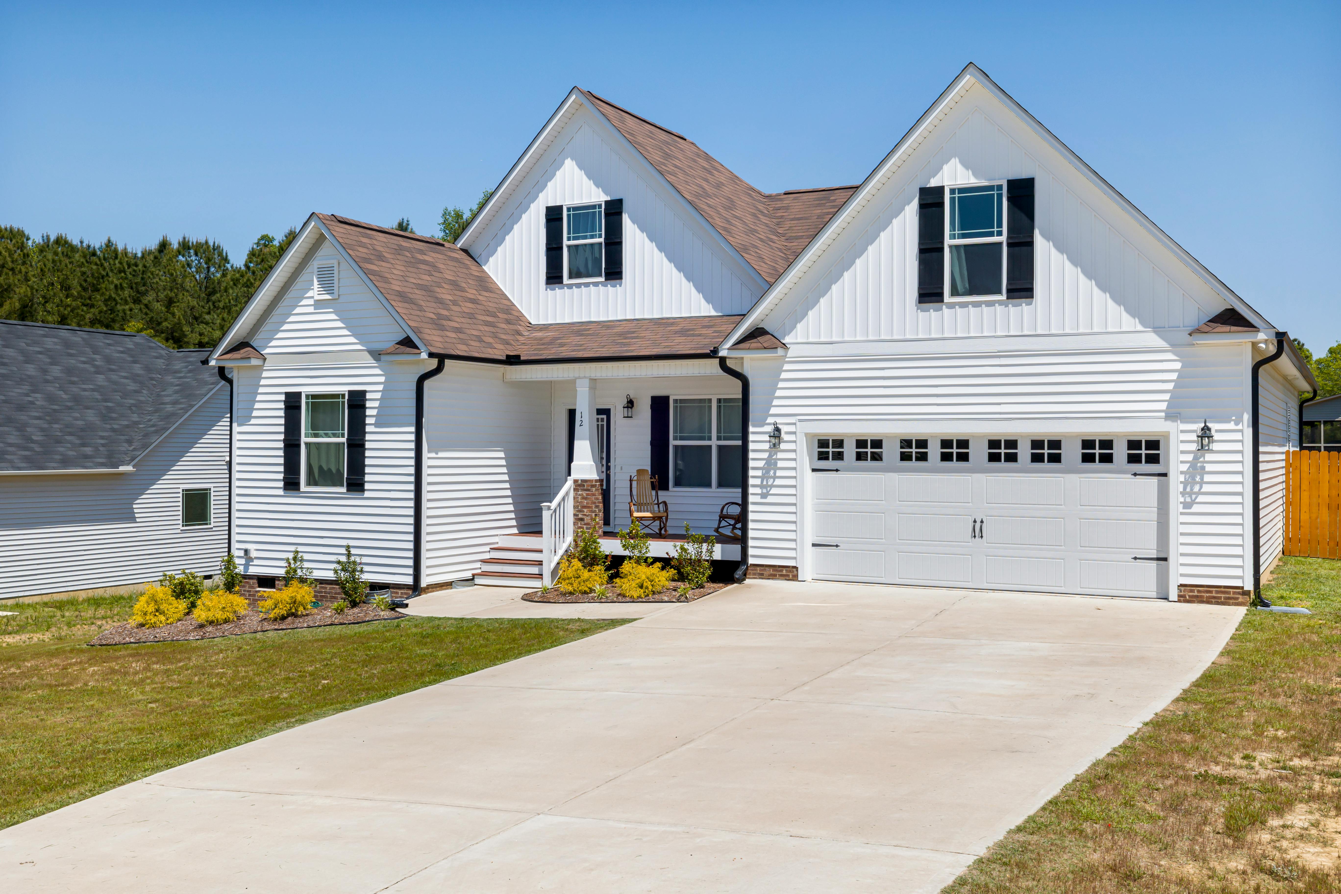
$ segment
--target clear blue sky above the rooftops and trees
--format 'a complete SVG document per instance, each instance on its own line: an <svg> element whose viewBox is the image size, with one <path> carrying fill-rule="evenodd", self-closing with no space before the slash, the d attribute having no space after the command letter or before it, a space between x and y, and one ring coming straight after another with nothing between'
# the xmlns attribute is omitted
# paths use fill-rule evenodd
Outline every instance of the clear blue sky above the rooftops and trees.
<svg viewBox="0 0 1341 894"><path fill-rule="evenodd" d="M967 62L1277 326L1341 340L1341 4L0 3L0 222L436 233L581 84L766 190L861 181Z"/></svg>

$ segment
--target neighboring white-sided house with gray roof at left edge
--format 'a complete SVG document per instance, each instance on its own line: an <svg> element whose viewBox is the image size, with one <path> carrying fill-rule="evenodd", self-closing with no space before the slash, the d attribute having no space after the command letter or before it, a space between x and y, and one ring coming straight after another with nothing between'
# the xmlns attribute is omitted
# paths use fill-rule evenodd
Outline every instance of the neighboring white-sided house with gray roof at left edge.
<svg viewBox="0 0 1341 894"><path fill-rule="evenodd" d="M0 599L217 570L229 387L208 354L0 320Z"/></svg>

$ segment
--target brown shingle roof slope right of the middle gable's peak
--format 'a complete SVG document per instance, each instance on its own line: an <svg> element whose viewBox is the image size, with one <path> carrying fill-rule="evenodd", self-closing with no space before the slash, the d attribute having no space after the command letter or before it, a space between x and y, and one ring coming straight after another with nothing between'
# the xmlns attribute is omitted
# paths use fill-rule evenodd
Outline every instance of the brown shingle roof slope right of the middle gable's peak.
<svg viewBox="0 0 1341 894"><path fill-rule="evenodd" d="M693 141L594 92L582 92L770 283L857 189L759 192Z"/></svg>

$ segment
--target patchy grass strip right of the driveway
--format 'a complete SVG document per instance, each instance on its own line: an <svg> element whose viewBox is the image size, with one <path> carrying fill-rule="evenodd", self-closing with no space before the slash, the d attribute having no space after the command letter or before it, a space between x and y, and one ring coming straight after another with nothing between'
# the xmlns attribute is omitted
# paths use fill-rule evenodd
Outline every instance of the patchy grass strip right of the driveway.
<svg viewBox="0 0 1341 894"><path fill-rule="evenodd" d="M1173 704L945 891L1341 890L1341 562L1285 559ZM1195 610L1195 609L1189 609Z"/></svg>

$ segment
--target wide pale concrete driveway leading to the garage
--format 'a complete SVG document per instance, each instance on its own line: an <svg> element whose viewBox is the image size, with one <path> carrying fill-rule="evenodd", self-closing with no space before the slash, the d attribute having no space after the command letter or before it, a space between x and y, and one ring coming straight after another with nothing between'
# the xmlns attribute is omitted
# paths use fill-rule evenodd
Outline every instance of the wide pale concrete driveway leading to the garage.
<svg viewBox="0 0 1341 894"><path fill-rule="evenodd" d="M751 582L0 831L0 878L935 891L1168 704L1242 614Z"/></svg>

